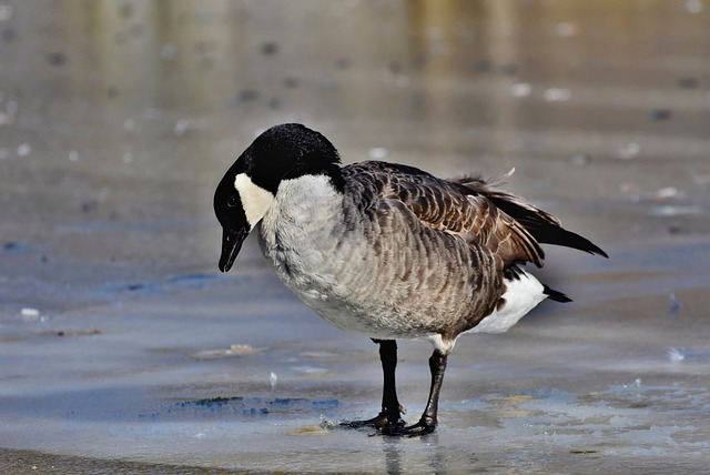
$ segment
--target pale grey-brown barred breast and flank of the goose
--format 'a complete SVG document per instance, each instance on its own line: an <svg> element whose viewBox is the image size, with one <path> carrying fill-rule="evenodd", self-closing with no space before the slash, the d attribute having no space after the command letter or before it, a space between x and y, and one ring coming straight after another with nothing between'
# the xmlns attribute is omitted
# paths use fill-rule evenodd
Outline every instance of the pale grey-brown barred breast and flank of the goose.
<svg viewBox="0 0 710 475"><path fill-rule="evenodd" d="M354 172L344 193L313 180L280 189L260 234L284 283L324 319L376 338L455 337L490 313L501 293L494 257L424 225L384 195L381 175Z"/></svg>

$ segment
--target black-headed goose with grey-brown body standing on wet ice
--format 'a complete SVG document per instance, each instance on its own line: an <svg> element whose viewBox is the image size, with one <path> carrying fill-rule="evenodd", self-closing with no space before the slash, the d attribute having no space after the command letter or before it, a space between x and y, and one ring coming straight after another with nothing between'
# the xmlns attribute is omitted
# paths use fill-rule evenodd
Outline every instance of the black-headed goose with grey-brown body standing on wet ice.
<svg viewBox="0 0 710 475"><path fill-rule="evenodd" d="M523 265L542 266L540 244L607 254L560 221L478 175L438 179L382 161L341 165L335 146L297 123L275 125L220 181L219 267L232 267L256 230L278 279L336 326L379 345L382 411L348 427L429 434L457 337L501 333L545 299L569 302ZM426 340L430 387L418 422L402 416L395 384L399 338Z"/></svg>

